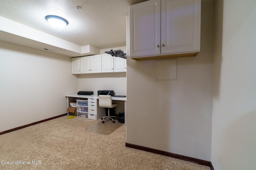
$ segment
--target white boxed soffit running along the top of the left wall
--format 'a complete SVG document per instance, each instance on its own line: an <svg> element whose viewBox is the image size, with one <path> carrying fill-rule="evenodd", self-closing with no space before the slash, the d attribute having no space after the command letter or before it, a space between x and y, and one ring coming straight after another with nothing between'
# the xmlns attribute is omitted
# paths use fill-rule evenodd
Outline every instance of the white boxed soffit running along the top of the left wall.
<svg viewBox="0 0 256 170"><path fill-rule="evenodd" d="M100 49L91 45L76 45L2 16L0 16L0 23L4 23L0 24L0 41L58 53L68 57L100 54Z"/></svg>

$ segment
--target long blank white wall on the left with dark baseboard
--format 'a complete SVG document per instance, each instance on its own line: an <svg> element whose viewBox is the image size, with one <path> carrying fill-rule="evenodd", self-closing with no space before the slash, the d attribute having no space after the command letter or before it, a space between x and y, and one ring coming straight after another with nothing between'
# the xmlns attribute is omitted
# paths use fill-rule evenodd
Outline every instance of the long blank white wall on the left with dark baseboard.
<svg viewBox="0 0 256 170"><path fill-rule="evenodd" d="M71 59L0 41L0 132L67 113L78 90Z"/></svg>

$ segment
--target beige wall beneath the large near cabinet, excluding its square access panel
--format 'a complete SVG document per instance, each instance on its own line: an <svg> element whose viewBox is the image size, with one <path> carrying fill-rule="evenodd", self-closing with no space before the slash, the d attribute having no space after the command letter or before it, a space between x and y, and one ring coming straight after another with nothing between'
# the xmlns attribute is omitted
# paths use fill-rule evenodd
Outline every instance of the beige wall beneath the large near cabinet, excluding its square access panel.
<svg viewBox="0 0 256 170"><path fill-rule="evenodd" d="M201 51L178 59L177 80L154 80L154 60L127 59L127 143L211 160L213 6L202 0Z"/></svg>

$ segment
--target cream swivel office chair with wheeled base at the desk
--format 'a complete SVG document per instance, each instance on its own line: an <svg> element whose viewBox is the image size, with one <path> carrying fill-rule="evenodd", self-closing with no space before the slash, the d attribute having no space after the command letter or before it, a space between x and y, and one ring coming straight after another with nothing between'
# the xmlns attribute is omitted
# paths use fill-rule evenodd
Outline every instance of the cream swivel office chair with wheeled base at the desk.
<svg viewBox="0 0 256 170"><path fill-rule="evenodd" d="M110 95L99 95L98 97L99 97L99 106L108 108L108 116L103 116L101 118L102 123L105 123L104 119L112 120L113 123L115 123L112 117L116 117L116 116L110 116L110 108L116 107L118 104L112 103L112 97Z"/></svg>

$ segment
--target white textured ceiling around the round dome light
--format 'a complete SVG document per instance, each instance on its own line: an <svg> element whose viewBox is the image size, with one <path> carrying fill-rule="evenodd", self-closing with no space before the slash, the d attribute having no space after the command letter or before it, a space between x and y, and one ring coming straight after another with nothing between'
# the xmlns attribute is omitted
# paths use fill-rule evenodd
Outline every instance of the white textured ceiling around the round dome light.
<svg viewBox="0 0 256 170"><path fill-rule="evenodd" d="M80 46L107 49L126 46L128 7L144 1L0 0L0 16ZM47 15L65 18L69 24L63 29L51 27L44 19Z"/></svg>

